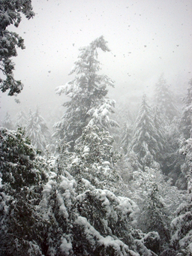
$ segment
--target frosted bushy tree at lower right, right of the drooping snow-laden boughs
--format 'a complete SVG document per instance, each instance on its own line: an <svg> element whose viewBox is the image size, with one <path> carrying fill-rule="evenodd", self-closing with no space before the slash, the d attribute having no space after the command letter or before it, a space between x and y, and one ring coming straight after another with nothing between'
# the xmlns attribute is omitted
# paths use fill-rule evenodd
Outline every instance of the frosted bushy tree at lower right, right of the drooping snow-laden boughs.
<svg viewBox="0 0 192 256"><path fill-rule="evenodd" d="M186 196L183 191L172 186L171 179L167 180L160 170L148 167L145 172L133 171L132 179L127 185L130 188L130 199L140 209L137 227L144 233L152 230L160 235L160 248L156 251L159 254L169 245L169 224Z"/></svg>

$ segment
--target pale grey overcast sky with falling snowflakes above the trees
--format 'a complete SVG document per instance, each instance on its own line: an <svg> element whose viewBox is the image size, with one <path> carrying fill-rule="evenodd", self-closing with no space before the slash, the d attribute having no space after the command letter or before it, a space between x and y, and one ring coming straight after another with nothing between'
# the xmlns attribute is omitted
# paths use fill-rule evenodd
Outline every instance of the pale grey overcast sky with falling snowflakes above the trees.
<svg viewBox="0 0 192 256"><path fill-rule="evenodd" d="M184 89L192 77L191 0L32 0L35 17L14 30L25 40L14 77L24 83L14 97L1 94L1 119L38 105L51 113L65 101L55 95L77 60L79 48L104 35L110 53L99 52L102 73L115 80L110 98L149 94L163 72L167 83ZM175 89L174 88L174 89ZM62 108L61 108L62 111ZM54 114L52 114L54 115Z"/></svg>

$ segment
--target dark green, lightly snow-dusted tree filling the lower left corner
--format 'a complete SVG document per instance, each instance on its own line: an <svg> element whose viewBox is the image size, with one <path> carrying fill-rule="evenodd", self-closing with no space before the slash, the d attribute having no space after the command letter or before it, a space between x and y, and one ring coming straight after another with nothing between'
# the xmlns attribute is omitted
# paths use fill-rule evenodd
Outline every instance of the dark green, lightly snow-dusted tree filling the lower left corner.
<svg viewBox="0 0 192 256"><path fill-rule="evenodd" d="M0 255L42 255L44 224L36 206L46 173L21 128L1 128L0 142Z"/></svg>

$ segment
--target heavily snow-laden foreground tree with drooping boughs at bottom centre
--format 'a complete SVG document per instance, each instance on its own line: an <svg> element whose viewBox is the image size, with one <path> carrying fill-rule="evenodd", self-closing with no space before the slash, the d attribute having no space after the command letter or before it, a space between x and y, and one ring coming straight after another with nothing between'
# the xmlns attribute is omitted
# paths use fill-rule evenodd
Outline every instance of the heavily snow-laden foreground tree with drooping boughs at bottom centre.
<svg viewBox="0 0 192 256"><path fill-rule="evenodd" d="M42 251L58 256L156 255L150 248L159 243L157 233L145 234L132 227L137 212L136 204L127 197L117 197L108 189L92 185L92 179L90 182L90 176L86 175L89 170L85 169L93 167L94 163L99 163L96 169L102 168L104 160L110 161L105 159L110 158L110 155L104 154L107 150L105 143L110 141L109 134L104 132L104 140L101 140L101 135L102 131L96 126L86 127L77 144L77 153L68 152L68 146L65 145L63 150L59 149L62 158L58 155L55 161L50 162L52 171L49 172L49 181L44 186L43 198L37 208L46 222ZM91 140L98 145L96 149ZM101 152L98 152L98 148ZM98 173L96 176L104 179Z"/></svg>

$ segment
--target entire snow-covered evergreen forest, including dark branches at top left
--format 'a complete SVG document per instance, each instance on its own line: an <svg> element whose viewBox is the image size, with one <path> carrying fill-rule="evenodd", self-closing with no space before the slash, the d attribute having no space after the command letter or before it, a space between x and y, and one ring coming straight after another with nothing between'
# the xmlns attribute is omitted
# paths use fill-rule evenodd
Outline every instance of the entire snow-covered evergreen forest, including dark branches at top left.
<svg viewBox="0 0 192 256"><path fill-rule="evenodd" d="M10 60L23 41L6 28L21 10L33 16L30 1L20 5L1 9L9 95L23 87ZM153 101L144 94L139 109L115 110L100 51L110 51L103 36L80 49L73 80L56 88L69 100L53 131L38 108L2 121L2 256L192 255L192 79L180 104L161 74Z"/></svg>

